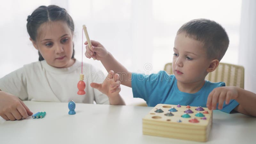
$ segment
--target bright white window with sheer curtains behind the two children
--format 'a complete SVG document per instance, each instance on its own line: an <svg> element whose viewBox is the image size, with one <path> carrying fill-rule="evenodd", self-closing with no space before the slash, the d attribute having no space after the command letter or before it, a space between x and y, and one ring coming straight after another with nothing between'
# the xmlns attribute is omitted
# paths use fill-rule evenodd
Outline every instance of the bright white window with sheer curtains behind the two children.
<svg viewBox="0 0 256 144"><path fill-rule="evenodd" d="M220 23L228 33L230 44L221 62L238 64L241 0L9 0L0 5L0 77L38 60L26 19L38 6L49 4L65 8L73 18L75 58L79 61L85 24L90 38L103 44L128 70L146 74L163 70L165 63L172 62L180 26L206 18ZM85 57L83 61L106 72L100 61ZM143 101L132 98L131 88L121 88L127 104Z"/></svg>

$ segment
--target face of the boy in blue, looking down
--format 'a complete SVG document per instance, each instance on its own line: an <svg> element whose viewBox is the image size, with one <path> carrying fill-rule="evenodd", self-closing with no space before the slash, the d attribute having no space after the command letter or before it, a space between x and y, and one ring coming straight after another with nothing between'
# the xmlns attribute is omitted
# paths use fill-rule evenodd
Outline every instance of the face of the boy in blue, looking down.
<svg viewBox="0 0 256 144"><path fill-rule="evenodd" d="M182 83L203 81L210 60L206 57L203 43L185 35L181 32L175 37L172 72Z"/></svg>

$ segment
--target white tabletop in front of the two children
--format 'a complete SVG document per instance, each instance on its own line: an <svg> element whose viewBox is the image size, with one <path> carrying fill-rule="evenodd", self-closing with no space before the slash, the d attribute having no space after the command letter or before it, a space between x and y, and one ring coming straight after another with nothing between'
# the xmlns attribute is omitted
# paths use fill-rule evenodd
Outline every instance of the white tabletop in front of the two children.
<svg viewBox="0 0 256 144"><path fill-rule="evenodd" d="M202 143L142 134L142 118L153 107L111 106L76 103L76 115L68 115L68 103L25 101L44 118L5 121L0 117L1 144L158 144ZM213 112L213 124L206 143L255 143L256 118L243 114Z"/></svg>

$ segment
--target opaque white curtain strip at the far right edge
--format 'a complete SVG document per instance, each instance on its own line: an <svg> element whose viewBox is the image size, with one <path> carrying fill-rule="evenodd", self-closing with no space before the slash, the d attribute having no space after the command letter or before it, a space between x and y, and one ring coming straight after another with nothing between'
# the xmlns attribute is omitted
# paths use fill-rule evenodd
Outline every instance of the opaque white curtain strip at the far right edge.
<svg viewBox="0 0 256 144"><path fill-rule="evenodd" d="M244 66L244 89L256 93L256 1L243 0L239 64Z"/></svg>

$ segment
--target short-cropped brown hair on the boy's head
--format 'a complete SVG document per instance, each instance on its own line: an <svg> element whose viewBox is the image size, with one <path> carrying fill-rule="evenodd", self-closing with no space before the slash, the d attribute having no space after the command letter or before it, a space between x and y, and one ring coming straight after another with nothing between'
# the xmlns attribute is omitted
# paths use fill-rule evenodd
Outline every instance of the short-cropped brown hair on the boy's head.
<svg viewBox="0 0 256 144"><path fill-rule="evenodd" d="M209 59L221 60L228 49L229 39L225 29L213 20L190 20L180 27L177 35L185 32L186 36L201 41Z"/></svg>

